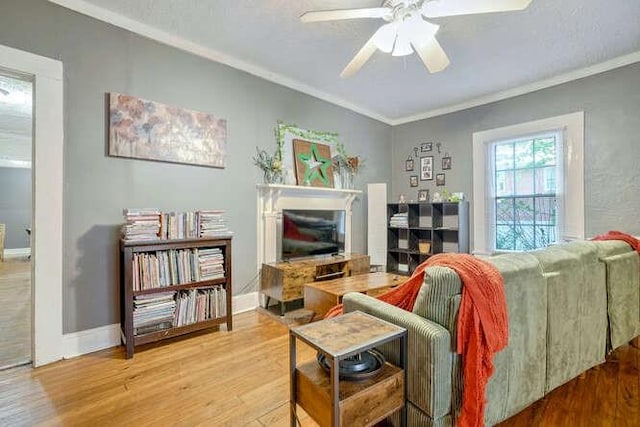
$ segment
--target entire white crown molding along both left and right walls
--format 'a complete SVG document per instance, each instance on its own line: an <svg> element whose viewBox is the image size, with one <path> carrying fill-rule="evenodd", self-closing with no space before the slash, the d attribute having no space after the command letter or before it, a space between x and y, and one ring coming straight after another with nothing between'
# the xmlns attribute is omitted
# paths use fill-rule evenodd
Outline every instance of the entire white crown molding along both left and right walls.
<svg viewBox="0 0 640 427"><path fill-rule="evenodd" d="M481 97L474 98L459 104L452 104L449 106L425 111L423 113L419 113L411 116L399 117L394 119L394 118L390 118L382 114L376 113L375 111L372 111L368 108L364 108L359 105L353 104L338 96L331 95L322 90L311 87L298 80L285 77L281 74L267 70L266 68L260 67L250 62L243 61L241 59L222 53L215 49L207 48L199 43L195 43L193 41L187 40L183 37L179 37L167 31L160 30L156 27L144 24L140 21L136 21L126 16L120 15L118 13L112 12L110 10L104 9L94 4L88 3L85 0L48 0L48 1L51 3L55 3L59 6L65 7L67 9L71 9L83 15L87 15L92 18L98 19L100 21L106 22L108 24L114 25L116 27L120 27L125 30L131 31L140 36L149 38L151 40L155 40L159 43L163 43L168 46L172 46L177 49L192 53L194 55L198 55L200 57L203 57L215 62L219 62L229 67L260 77L264 80L276 83L281 86L288 87L289 89L293 89L298 92L302 92L306 95L313 96L314 98L318 98L322 101L329 102L339 107L346 108L347 110L351 110L355 113L361 114L363 116L369 117L371 119L377 120L379 122L385 123L390 126L399 126L406 123L416 122L419 120L424 120L424 119L429 119L437 116L442 116L445 114L455 113L457 111L478 107L484 104L490 104L492 102L502 101L504 99L513 98L513 97L524 95L530 92L535 92L541 89L557 86L573 80L589 77L594 74L600 74L605 71L613 70L615 68L624 67L625 65L630 65L636 62L640 62L640 51L637 51L637 52L630 53L628 55L619 56L617 58L613 58L613 59L601 62L599 64L573 70L568 73L560 74L555 77L529 83L523 86L518 86L518 87L507 89L504 91L492 93L486 96L481 96Z"/></svg>

